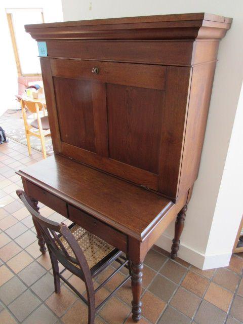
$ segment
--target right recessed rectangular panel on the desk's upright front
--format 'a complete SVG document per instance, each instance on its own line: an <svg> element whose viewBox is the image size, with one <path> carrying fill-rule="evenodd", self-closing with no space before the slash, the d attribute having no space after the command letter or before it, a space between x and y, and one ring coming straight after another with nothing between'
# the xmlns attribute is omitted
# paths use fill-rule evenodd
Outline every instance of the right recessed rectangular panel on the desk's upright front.
<svg viewBox="0 0 243 324"><path fill-rule="evenodd" d="M164 92L106 87L109 157L158 174Z"/></svg>

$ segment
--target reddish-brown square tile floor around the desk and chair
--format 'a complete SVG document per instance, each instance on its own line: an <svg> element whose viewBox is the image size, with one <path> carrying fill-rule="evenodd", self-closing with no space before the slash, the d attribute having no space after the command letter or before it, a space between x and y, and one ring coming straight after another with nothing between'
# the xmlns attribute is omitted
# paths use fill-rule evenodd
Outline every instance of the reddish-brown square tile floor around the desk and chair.
<svg viewBox="0 0 243 324"><path fill-rule="evenodd" d="M27 147L12 140L0 145L0 323L87 323L85 304L66 285L60 295L54 293L50 259L38 251L31 217L15 194L21 187L15 170L41 158L34 150L29 157ZM45 217L63 220L53 210L39 206ZM140 324L243 323L242 268L243 254L233 255L227 268L201 271L183 260L170 260L167 252L154 247L145 259ZM97 303L123 280L124 271L99 291ZM85 294L83 282L64 273ZM128 282L101 308L96 324L133 323L130 305Z"/></svg>

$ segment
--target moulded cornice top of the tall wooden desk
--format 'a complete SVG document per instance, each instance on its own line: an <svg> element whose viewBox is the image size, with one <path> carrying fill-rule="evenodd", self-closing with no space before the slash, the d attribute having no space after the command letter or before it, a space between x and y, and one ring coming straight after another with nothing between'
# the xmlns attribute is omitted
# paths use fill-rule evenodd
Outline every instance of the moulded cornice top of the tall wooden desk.
<svg viewBox="0 0 243 324"><path fill-rule="evenodd" d="M26 25L34 39L220 39L232 18L208 13Z"/></svg>

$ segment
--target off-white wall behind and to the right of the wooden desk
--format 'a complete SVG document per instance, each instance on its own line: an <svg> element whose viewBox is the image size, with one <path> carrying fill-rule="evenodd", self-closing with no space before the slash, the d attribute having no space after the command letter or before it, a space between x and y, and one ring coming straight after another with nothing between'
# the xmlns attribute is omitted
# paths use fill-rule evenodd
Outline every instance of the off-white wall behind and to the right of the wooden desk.
<svg viewBox="0 0 243 324"><path fill-rule="evenodd" d="M237 205L228 218L224 217L224 223L218 221L217 228L214 230L213 219L242 82L242 1L62 0L62 5L65 21L190 12L209 12L233 17L232 27L221 41L219 48L219 62L216 68L200 170L189 204L179 252L179 256L199 267L227 265L240 215L243 212L242 206ZM227 181L225 185L227 189ZM231 191L226 190L226 195L232 204L234 199L240 199L241 186L237 182L233 188L234 193L232 188ZM224 199L226 199L225 195ZM221 207L223 207L222 203L223 201L220 203L218 200ZM220 210L222 211L222 208L218 205L219 217ZM210 234L211 229L213 237ZM220 244L222 235L224 245ZM157 244L169 250L172 236L173 225L161 236ZM213 245L212 239L215 242Z"/></svg>

